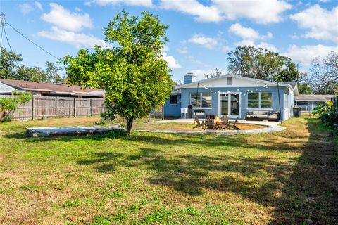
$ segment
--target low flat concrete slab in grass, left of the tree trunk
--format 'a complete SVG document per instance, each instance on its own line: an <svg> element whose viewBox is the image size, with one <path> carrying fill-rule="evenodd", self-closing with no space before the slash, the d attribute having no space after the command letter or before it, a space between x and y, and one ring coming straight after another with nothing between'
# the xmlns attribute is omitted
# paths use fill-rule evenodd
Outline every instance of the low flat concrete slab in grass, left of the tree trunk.
<svg viewBox="0 0 338 225"><path fill-rule="evenodd" d="M106 131L120 129L118 126L112 127L27 127L27 133L32 137L42 136L68 136L68 135L91 135L101 134Z"/></svg>

